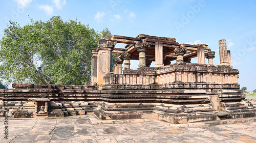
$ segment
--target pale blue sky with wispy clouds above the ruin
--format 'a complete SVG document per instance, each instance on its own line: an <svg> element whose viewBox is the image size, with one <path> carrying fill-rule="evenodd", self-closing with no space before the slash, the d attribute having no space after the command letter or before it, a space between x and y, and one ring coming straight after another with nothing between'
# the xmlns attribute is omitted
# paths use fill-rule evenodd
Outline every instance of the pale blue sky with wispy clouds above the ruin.
<svg viewBox="0 0 256 143"><path fill-rule="evenodd" d="M226 39L232 66L240 71L241 87L247 87L247 91L256 89L256 1L253 0L11 0L0 1L0 6L0 35L9 19L25 25L30 22L28 15L34 20L60 15L65 21L77 18L96 31L108 27L113 35L147 34L176 38L179 43L207 44L216 51L214 64L220 63L218 41ZM136 68L137 62L131 66Z"/></svg>

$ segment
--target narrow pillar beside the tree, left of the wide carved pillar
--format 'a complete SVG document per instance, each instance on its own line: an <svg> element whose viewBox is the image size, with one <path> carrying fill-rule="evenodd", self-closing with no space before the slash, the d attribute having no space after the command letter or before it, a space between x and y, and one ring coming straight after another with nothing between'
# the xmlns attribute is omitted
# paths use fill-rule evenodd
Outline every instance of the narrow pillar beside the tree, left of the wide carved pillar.
<svg viewBox="0 0 256 143"><path fill-rule="evenodd" d="M93 50L92 51L93 56L92 56L92 62L91 62L91 81L92 84L95 85L97 83L97 59L98 59L98 52Z"/></svg>

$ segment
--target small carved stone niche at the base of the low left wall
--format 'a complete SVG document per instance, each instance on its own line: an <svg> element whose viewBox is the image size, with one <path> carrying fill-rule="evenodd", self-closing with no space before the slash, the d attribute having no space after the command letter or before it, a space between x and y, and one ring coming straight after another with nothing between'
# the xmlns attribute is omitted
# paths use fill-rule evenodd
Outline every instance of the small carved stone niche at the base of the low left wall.
<svg viewBox="0 0 256 143"><path fill-rule="evenodd" d="M33 99L35 102L35 117L47 117L48 116L48 105L49 98L36 98Z"/></svg>

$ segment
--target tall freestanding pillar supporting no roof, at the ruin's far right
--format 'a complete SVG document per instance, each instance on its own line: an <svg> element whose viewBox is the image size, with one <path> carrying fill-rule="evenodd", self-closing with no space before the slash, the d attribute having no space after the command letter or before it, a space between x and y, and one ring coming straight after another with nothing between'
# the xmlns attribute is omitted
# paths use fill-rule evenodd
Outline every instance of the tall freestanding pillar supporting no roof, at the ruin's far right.
<svg viewBox="0 0 256 143"><path fill-rule="evenodd" d="M220 48L220 65L229 66L228 58L227 58L227 43L225 39L219 40L219 48Z"/></svg>

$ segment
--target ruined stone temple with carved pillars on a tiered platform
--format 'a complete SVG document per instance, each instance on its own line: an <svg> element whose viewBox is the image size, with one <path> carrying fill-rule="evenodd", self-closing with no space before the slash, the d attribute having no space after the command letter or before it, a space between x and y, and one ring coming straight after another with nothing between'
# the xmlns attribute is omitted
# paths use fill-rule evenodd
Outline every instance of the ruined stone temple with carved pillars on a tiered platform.
<svg viewBox="0 0 256 143"><path fill-rule="evenodd" d="M115 48L116 43L127 45ZM226 40L219 40L219 48L220 64L213 65L215 52L205 44L179 44L175 38L144 34L108 36L92 51L91 82L13 84L15 89L1 90L0 114L95 114L101 120L151 118L172 124L255 117L255 106L240 90L239 71L231 67ZM114 72L112 53L119 53ZM198 63L190 63L196 57ZM130 60L139 60L137 70L130 69ZM153 61L155 67L150 67Z"/></svg>

